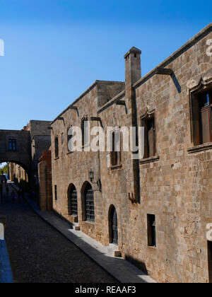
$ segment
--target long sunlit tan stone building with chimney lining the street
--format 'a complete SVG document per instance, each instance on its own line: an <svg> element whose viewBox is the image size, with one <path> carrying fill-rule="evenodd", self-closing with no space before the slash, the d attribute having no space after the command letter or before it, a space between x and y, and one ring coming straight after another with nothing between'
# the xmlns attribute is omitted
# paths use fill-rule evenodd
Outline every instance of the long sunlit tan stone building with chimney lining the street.
<svg viewBox="0 0 212 297"><path fill-rule="evenodd" d="M143 77L133 47L125 82L95 81L51 124L54 210L160 282L212 282L208 40L212 24ZM87 120L90 128L144 127L143 158L88 151L88 137L82 151L69 151L70 127Z"/></svg>

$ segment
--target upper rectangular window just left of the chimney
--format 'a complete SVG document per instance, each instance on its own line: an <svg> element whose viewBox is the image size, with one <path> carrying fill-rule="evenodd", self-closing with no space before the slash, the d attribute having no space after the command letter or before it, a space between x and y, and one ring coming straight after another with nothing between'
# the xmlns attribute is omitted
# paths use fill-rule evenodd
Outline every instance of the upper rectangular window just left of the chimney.
<svg viewBox="0 0 212 297"><path fill-rule="evenodd" d="M120 165L121 161L121 134L119 132L112 132L112 152L110 155L110 163L112 166L116 166Z"/></svg>

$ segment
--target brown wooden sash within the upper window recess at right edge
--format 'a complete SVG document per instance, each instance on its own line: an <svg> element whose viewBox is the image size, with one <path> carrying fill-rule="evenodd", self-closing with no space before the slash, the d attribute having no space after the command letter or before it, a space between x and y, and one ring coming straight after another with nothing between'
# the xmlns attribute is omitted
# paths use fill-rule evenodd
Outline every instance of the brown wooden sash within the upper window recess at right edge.
<svg viewBox="0 0 212 297"><path fill-rule="evenodd" d="M212 141L212 91L199 95L199 119L201 144Z"/></svg>

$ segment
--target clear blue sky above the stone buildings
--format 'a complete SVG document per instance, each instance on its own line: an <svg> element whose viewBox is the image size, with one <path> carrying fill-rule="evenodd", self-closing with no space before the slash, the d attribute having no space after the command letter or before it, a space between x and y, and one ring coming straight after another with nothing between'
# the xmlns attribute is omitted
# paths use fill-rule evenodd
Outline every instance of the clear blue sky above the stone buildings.
<svg viewBox="0 0 212 297"><path fill-rule="evenodd" d="M211 11L208 0L0 0L0 129L53 120L96 79L124 81L132 46L146 74L208 25Z"/></svg>

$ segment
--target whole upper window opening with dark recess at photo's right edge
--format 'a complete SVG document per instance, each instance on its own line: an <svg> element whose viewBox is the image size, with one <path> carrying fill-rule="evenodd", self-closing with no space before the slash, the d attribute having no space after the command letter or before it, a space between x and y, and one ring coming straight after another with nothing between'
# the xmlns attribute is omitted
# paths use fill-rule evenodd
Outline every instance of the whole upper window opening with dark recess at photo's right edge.
<svg viewBox="0 0 212 297"><path fill-rule="evenodd" d="M193 95L192 122L194 145L212 141L212 90Z"/></svg>

